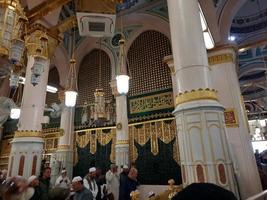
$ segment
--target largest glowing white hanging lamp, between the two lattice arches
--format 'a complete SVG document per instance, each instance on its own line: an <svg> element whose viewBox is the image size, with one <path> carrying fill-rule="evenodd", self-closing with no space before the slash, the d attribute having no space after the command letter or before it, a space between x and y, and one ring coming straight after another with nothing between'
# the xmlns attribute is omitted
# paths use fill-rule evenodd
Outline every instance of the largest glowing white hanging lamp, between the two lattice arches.
<svg viewBox="0 0 267 200"><path fill-rule="evenodd" d="M120 94L127 94L129 91L129 79L127 75L127 62L125 54L125 40L121 38L119 40L120 53L119 53L119 72L116 76L117 90Z"/></svg>

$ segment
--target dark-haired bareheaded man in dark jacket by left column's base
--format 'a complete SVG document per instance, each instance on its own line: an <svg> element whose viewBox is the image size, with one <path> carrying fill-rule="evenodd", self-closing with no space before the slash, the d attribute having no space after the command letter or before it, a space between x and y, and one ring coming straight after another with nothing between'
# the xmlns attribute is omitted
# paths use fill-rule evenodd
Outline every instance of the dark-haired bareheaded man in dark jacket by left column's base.
<svg viewBox="0 0 267 200"><path fill-rule="evenodd" d="M43 169L43 176L39 178L40 188L41 188L41 200L49 199L49 191L51 189L50 177L51 177L51 168L45 167Z"/></svg>

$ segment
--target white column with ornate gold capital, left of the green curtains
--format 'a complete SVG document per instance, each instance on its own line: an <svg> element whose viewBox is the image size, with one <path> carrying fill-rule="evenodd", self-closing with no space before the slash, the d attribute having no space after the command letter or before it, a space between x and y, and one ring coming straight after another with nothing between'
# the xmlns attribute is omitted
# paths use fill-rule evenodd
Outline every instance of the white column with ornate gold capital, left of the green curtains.
<svg viewBox="0 0 267 200"><path fill-rule="evenodd" d="M40 29L38 28L40 27ZM39 175L43 154L42 120L46 99L46 86L49 72L49 56L57 42L48 37L42 31L40 25L36 24L35 29L26 38L28 63L26 68L26 80L23 89L21 114L18 122L18 131L15 132L12 140L12 147L9 159L8 175L21 175L29 177L33 174ZM48 43L54 45L49 45ZM37 85L31 83L32 67L34 56L42 56L45 59L43 72Z"/></svg>

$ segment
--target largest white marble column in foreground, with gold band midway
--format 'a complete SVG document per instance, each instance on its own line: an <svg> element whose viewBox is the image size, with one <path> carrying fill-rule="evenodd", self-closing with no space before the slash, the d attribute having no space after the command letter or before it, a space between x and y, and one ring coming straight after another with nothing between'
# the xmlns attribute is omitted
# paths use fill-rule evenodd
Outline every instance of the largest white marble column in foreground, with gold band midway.
<svg viewBox="0 0 267 200"><path fill-rule="evenodd" d="M211 82L197 0L168 0L175 76L177 124L183 186L215 183L236 190L224 108Z"/></svg>

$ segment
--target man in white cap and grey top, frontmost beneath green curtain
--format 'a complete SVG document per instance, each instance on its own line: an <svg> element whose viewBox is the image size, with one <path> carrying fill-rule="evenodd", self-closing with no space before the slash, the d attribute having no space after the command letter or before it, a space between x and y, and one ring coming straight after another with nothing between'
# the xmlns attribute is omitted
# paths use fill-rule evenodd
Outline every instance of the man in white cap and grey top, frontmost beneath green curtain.
<svg viewBox="0 0 267 200"><path fill-rule="evenodd" d="M72 179L72 188L75 192L73 200L93 200L92 192L83 185L83 179L76 176Z"/></svg>

